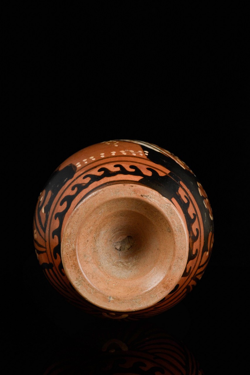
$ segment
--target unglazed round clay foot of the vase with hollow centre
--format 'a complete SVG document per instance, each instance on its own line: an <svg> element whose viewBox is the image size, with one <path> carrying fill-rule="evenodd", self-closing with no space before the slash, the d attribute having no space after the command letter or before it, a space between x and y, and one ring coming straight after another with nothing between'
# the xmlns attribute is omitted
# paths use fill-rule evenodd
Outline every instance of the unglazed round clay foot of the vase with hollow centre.
<svg viewBox="0 0 250 375"><path fill-rule="evenodd" d="M138 311L178 284L188 241L185 221L169 199L140 184L111 184L83 199L69 216L63 269L93 305Z"/></svg>

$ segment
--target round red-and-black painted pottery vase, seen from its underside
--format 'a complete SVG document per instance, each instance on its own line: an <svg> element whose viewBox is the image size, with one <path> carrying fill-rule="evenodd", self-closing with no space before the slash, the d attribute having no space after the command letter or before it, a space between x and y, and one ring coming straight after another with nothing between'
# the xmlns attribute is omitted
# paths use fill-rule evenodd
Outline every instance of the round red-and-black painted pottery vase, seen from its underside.
<svg viewBox="0 0 250 375"><path fill-rule="evenodd" d="M203 275L214 226L205 190L178 157L133 140L66 159L33 222L39 264L85 312L138 319L181 301Z"/></svg>

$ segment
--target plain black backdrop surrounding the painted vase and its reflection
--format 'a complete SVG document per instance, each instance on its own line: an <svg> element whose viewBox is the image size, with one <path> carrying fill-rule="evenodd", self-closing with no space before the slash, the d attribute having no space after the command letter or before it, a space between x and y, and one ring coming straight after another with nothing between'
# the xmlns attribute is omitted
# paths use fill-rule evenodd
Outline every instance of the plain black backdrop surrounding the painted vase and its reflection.
<svg viewBox="0 0 250 375"><path fill-rule="evenodd" d="M11 27L6 21L11 104L2 136L4 374L42 375L63 350L80 353L84 368L97 361L105 341L131 327L69 306L48 284L33 247L36 201L52 172L76 151L111 139L151 142L178 156L201 181L214 214L214 248L199 284L178 306L138 327L161 327L183 340L205 375L246 373L245 15L243 6L215 1L12 9Z"/></svg>

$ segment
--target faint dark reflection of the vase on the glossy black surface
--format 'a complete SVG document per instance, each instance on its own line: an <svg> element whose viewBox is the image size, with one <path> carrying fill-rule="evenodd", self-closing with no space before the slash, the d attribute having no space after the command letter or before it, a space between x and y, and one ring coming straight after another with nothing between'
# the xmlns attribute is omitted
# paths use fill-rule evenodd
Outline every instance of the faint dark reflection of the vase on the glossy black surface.
<svg viewBox="0 0 250 375"><path fill-rule="evenodd" d="M152 327L133 327L123 337L102 337L92 356L87 357L85 351L84 347L65 350L43 375L204 374L181 339Z"/></svg>

